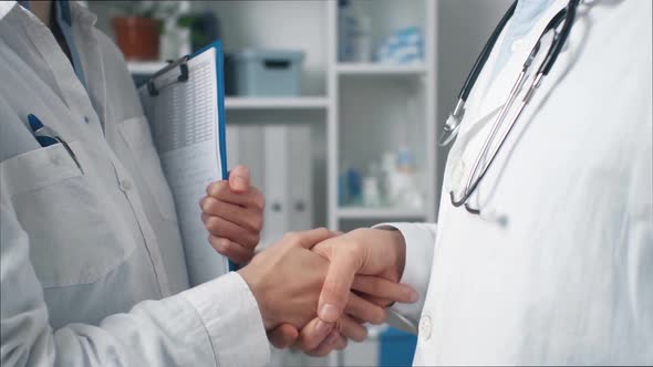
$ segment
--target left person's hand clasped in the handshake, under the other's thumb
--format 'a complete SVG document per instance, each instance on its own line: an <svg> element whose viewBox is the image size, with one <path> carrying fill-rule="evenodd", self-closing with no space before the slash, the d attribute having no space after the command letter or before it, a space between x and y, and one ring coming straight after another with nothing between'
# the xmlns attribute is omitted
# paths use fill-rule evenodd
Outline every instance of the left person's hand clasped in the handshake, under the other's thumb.
<svg viewBox="0 0 653 367"><path fill-rule="evenodd" d="M338 234L325 229L288 233L238 271L257 300L267 331L280 326L280 329L297 335L298 328L317 316L318 298L329 263L309 249L334 235ZM390 282L386 285L393 286ZM359 319L374 324L385 321L383 307L355 294L349 296L344 312L348 315L342 317L339 328L343 335L355 340L366 336L366 329L359 324ZM322 338L334 327L321 321L312 324L312 329Z"/></svg>

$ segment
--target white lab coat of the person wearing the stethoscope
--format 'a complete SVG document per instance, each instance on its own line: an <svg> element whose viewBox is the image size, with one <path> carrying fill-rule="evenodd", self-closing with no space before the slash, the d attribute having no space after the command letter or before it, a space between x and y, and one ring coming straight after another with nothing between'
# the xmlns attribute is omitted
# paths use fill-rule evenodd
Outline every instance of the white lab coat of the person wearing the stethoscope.
<svg viewBox="0 0 653 367"><path fill-rule="evenodd" d="M396 307L418 325L415 365L653 364L650 1L582 4L473 197L486 214L449 200L566 3L514 43L494 78L490 55L448 157L438 224L393 224L406 240L403 281L422 296Z"/></svg>

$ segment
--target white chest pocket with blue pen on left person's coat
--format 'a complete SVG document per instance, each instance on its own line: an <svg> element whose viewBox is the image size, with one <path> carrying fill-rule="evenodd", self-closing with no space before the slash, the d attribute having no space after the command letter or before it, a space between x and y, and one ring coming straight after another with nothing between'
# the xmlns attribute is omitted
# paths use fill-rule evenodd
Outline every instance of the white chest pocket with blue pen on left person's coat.
<svg viewBox="0 0 653 367"><path fill-rule="evenodd" d="M77 141L70 147L83 154ZM97 282L133 252L120 217L61 144L2 161L0 176L44 287Z"/></svg>

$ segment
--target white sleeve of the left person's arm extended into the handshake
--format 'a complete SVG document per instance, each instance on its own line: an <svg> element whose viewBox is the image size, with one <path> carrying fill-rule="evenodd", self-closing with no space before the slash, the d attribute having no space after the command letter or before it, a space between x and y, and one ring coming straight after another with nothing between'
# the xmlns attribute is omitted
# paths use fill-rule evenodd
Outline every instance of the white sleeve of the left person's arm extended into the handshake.
<svg viewBox="0 0 653 367"><path fill-rule="evenodd" d="M29 238L2 193L0 364L13 366L260 366L269 345L256 298L231 273L99 325L49 324ZM83 300L80 300L83 302Z"/></svg>

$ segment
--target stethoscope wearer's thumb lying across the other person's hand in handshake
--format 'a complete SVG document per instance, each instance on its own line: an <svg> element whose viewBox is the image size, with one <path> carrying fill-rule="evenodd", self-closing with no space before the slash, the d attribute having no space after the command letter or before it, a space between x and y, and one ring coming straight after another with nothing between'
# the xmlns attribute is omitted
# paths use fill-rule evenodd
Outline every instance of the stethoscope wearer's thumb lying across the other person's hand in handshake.
<svg viewBox="0 0 653 367"><path fill-rule="evenodd" d="M331 263L318 303L318 316L326 323L334 323L342 316L354 275L363 262L361 255L349 250L350 247L335 244L326 254Z"/></svg>

